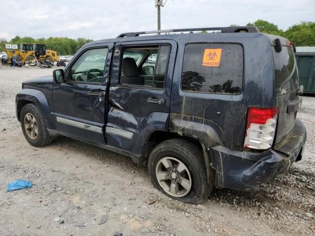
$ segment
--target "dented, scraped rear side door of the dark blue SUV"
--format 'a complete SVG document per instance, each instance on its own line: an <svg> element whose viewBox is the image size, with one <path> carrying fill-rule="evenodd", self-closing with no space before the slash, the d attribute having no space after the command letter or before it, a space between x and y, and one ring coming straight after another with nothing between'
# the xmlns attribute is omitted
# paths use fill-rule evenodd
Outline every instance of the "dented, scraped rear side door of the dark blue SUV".
<svg viewBox="0 0 315 236"><path fill-rule="evenodd" d="M121 82L122 59L126 49L163 45L169 47L163 88L133 86ZM138 40L116 44L110 75L109 112L106 124L106 138L109 146L121 148L139 156L153 131L167 130L176 50L177 43L173 40Z"/></svg>

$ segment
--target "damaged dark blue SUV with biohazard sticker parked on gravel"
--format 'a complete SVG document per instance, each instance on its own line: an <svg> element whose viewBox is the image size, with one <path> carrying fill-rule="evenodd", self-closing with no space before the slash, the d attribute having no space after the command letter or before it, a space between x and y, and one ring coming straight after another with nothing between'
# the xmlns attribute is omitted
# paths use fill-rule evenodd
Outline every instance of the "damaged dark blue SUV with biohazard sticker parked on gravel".
<svg viewBox="0 0 315 236"><path fill-rule="evenodd" d="M123 33L23 82L16 116L26 140L42 147L62 135L129 156L186 203L214 186L262 191L303 155L294 48L256 27L189 29L201 30L222 33ZM144 65L153 54L156 63ZM84 63L96 55L106 63Z"/></svg>

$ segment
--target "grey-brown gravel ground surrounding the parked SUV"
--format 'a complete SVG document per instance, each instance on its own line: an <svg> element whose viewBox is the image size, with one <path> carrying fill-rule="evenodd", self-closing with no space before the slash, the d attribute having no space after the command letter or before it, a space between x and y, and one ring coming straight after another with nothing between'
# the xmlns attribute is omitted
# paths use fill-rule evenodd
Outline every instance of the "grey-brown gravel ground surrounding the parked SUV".
<svg viewBox="0 0 315 236"><path fill-rule="evenodd" d="M63 137L30 146L15 95L22 81L52 70L0 68L1 236L315 235L315 97L304 96L298 113L308 131L302 161L262 186L275 195L214 190L193 206L159 193L147 169L124 156ZM33 187L7 192L20 178Z"/></svg>

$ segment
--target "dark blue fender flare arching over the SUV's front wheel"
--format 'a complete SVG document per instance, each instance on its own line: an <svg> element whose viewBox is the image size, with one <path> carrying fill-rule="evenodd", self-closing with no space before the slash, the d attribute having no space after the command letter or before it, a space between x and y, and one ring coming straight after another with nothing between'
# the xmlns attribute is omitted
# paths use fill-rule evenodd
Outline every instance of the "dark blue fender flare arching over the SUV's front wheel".
<svg viewBox="0 0 315 236"><path fill-rule="evenodd" d="M22 89L15 98L16 117L20 121L21 110L24 105L28 103L34 103L43 118L48 129L56 129L56 124L53 116L51 115L51 109L49 107L47 98L42 91L37 89Z"/></svg>

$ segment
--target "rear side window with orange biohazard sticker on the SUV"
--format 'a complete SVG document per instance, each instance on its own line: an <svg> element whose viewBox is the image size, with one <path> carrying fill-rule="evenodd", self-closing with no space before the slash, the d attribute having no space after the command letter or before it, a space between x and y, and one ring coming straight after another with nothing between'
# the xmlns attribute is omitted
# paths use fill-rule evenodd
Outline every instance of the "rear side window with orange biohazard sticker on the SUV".
<svg viewBox="0 0 315 236"><path fill-rule="evenodd" d="M243 48L238 44L188 44L185 47L183 91L240 94Z"/></svg>

